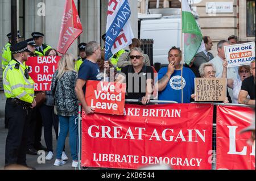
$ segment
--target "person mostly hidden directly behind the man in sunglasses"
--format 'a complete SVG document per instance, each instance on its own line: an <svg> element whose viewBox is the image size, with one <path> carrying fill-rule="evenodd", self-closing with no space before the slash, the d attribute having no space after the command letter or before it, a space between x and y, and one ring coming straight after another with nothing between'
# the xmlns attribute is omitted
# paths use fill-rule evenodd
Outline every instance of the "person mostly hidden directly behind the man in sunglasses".
<svg viewBox="0 0 256 181"><path fill-rule="evenodd" d="M129 45L129 49L130 51L133 48L140 48L141 47L141 41L139 41L139 39L132 39L131 40L132 43ZM148 57L147 54L143 54L143 64L146 66L150 66L150 59ZM118 62L117 62L117 66L119 69L124 68L127 65L131 65L131 61L130 61L130 52L125 52L123 54L121 54Z"/></svg>

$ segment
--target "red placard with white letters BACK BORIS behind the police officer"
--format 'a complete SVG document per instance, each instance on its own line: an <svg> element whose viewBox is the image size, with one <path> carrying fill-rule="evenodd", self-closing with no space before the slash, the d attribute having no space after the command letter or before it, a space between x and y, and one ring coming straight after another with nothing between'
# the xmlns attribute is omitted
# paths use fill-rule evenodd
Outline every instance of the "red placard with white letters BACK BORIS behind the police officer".
<svg viewBox="0 0 256 181"><path fill-rule="evenodd" d="M28 57L26 65L30 68L30 77L35 82L35 91L51 90L52 75L57 69L61 56Z"/></svg>

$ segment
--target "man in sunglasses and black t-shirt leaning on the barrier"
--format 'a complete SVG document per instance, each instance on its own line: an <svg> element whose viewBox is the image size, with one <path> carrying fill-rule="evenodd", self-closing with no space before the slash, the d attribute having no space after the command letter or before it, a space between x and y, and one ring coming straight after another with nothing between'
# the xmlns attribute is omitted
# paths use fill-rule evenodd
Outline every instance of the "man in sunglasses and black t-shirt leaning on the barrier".
<svg viewBox="0 0 256 181"><path fill-rule="evenodd" d="M122 69L117 81L126 83L126 99L141 99L142 104L150 101L154 70L151 66L143 65L143 51L140 48L133 48L130 53L131 65ZM132 87L130 87L132 86Z"/></svg>

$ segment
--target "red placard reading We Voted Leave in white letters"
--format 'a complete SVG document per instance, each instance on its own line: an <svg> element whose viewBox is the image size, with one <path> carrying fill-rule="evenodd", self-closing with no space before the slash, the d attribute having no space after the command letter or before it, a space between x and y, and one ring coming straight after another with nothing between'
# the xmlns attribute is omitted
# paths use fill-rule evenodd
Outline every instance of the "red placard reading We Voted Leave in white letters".
<svg viewBox="0 0 256 181"><path fill-rule="evenodd" d="M87 81L86 104L98 113L123 115L125 92L126 83Z"/></svg>

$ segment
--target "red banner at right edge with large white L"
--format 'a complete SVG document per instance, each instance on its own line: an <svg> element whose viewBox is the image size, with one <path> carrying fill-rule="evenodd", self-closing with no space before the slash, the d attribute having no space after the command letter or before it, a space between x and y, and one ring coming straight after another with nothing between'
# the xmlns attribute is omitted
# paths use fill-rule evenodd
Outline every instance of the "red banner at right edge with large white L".
<svg viewBox="0 0 256 181"><path fill-rule="evenodd" d="M240 133L253 116L249 107L217 106L216 169L255 169L255 150L247 144L251 133Z"/></svg>

